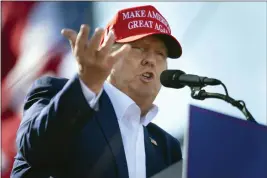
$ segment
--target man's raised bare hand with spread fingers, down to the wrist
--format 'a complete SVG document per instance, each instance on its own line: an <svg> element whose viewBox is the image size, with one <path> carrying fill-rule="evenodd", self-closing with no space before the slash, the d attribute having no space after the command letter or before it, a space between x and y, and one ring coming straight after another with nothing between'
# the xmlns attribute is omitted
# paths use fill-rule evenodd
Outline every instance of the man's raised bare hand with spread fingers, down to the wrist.
<svg viewBox="0 0 267 178"><path fill-rule="evenodd" d="M119 59L124 58L131 47L124 44L121 48L111 51L115 42L112 31L100 46L104 30L97 28L92 38L88 40L89 30L88 25L81 25L78 34L71 29L63 29L61 33L70 42L72 53L78 62L78 74L81 80L93 92L98 93L109 76L113 65Z"/></svg>

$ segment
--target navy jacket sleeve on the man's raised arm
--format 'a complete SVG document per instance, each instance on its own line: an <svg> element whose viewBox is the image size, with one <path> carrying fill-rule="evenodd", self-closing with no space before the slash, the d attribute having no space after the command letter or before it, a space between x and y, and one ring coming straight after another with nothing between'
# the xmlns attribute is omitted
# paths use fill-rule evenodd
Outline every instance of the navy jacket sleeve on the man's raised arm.
<svg viewBox="0 0 267 178"><path fill-rule="evenodd" d="M16 138L18 152L31 166L61 159L67 143L94 112L77 75L68 81L52 77L37 80L26 96Z"/></svg>

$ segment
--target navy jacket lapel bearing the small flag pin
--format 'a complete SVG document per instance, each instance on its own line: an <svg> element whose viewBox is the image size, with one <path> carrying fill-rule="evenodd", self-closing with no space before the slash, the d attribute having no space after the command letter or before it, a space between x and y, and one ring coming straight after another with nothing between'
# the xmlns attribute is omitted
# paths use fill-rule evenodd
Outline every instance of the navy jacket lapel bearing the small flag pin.
<svg viewBox="0 0 267 178"><path fill-rule="evenodd" d="M145 151L146 151L146 175L147 177L151 177L154 174L160 172L162 169L166 167L166 165L163 162L163 159L161 158L163 155L158 152L158 148L160 145L158 143L154 142L153 139L151 141L151 138L148 133L148 130L146 127L144 127L144 142L145 142Z"/></svg>

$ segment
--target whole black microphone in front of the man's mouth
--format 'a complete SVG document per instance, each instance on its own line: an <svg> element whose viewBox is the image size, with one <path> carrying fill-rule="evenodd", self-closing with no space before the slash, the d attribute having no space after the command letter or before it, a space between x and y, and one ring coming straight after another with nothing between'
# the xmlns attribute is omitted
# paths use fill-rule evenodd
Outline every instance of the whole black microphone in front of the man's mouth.
<svg viewBox="0 0 267 178"><path fill-rule="evenodd" d="M217 79L186 74L181 70L164 70L160 75L160 82L165 87L177 89L185 86L204 87L206 85L220 85L222 83Z"/></svg>

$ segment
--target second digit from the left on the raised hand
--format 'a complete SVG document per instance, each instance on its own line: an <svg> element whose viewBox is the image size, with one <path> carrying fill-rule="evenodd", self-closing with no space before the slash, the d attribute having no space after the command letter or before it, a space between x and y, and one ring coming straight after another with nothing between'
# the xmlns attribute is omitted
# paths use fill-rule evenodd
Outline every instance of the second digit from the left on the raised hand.
<svg viewBox="0 0 267 178"><path fill-rule="evenodd" d="M87 44L89 37L89 26L88 25L81 25L80 31L77 35L76 43L75 43L75 52L83 53L85 49L85 45Z"/></svg>

